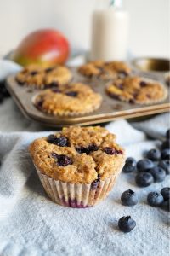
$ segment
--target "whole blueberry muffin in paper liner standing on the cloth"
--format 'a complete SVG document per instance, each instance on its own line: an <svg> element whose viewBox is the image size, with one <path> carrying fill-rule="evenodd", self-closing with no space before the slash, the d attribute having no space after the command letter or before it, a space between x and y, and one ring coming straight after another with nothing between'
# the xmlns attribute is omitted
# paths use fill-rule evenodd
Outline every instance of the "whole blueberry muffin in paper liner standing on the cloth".
<svg viewBox="0 0 170 256"><path fill-rule="evenodd" d="M71 126L31 143L31 158L49 197L67 207L92 207L111 191L124 149L105 128Z"/></svg>

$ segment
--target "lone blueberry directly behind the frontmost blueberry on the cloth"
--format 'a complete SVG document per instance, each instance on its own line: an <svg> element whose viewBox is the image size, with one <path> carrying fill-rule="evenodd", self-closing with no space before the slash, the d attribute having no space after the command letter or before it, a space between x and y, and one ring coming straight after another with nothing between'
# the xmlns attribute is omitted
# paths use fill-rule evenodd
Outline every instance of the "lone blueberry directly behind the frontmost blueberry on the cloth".
<svg viewBox="0 0 170 256"><path fill-rule="evenodd" d="M133 190L128 189L122 193L121 201L124 206L133 207L138 203L138 196Z"/></svg>

